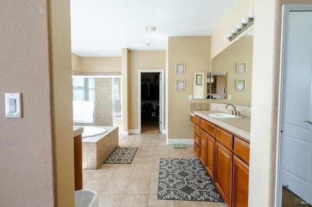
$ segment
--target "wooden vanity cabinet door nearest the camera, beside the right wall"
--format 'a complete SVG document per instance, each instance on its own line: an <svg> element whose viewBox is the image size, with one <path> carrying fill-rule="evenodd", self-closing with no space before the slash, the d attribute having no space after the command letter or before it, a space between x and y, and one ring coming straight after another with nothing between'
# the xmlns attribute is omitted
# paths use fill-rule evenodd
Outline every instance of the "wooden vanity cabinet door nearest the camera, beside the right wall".
<svg viewBox="0 0 312 207"><path fill-rule="evenodd" d="M249 167L234 155L232 207L248 207Z"/></svg>

